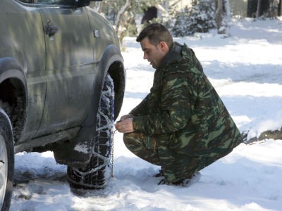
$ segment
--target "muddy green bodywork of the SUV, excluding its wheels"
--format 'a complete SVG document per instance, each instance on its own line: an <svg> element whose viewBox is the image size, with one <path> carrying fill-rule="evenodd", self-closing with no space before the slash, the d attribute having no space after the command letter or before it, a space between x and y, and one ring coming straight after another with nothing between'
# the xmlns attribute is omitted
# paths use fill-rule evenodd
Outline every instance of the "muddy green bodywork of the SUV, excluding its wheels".
<svg viewBox="0 0 282 211"><path fill-rule="evenodd" d="M62 149L66 151L62 163L72 165L76 160L76 165L85 165L91 151L78 158L73 146L93 147L107 73L114 79L115 118L121 109L125 69L118 37L105 18L84 6L87 1L69 0L64 6L23 1L0 0L0 86L6 80L7 89L20 93L4 103L13 105L14 111L22 108L13 98L24 101L23 124L11 117L20 132L16 152ZM77 3L81 7L75 7ZM5 91L0 90L0 106Z"/></svg>

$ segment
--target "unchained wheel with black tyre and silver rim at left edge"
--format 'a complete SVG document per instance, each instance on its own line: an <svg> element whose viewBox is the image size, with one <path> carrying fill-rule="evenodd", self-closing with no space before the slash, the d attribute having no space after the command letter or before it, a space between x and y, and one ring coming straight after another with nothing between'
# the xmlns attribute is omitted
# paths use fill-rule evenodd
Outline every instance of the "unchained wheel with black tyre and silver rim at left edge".
<svg viewBox="0 0 282 211"><path fill-rule="evenodd" d="M13 132L8 115L0 108L0 210L9 210L13 192Z"/></svg>

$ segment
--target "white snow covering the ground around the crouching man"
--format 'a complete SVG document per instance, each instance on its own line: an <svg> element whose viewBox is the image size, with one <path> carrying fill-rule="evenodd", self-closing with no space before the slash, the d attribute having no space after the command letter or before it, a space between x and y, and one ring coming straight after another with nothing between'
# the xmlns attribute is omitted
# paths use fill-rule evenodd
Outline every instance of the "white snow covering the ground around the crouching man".
<svg viewBox="0 0 282 211"><path fill-rule="evenodd" d="M248 138L282 126L282 18L234 20L229 37L210 32L176 38L196 53L241 132ZM127 87L121 115L152 86L154 70L134 37L124 40ZM128 151L115 134L114 178L102 191L73 193L53 154L16 154L16 210L281 210L282 140L241 143L201 170L189 187L157 185L159 167Z"/></svg>

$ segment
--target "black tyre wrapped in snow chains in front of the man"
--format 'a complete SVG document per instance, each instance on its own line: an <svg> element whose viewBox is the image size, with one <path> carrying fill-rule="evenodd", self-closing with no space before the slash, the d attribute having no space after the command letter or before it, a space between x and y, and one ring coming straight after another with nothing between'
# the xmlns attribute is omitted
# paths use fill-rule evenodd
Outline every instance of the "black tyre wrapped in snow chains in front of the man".
<svg viewBox="0 0 282 211"><path fill-rule="evenodd" d="M110 178L111 146L114 128L114 82L106 76L99 101L94 148L85 168L68 166L68 183L71 188L101 189Z"/></svg>

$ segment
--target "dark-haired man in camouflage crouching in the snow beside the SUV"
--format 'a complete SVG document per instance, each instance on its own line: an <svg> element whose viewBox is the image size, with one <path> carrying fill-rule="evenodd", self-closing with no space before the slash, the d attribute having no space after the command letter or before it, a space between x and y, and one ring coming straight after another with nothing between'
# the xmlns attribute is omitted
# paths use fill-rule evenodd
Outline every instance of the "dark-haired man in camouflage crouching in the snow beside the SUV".
<svg viewBox="0 0 282 211"><path fill-rule="evenodd" d="M154 83L116 129L130 151L161 166L162 184L185 184L238 146L240 132L192 49L173 42L159 23L136 41L156 69Z"/></svg>

